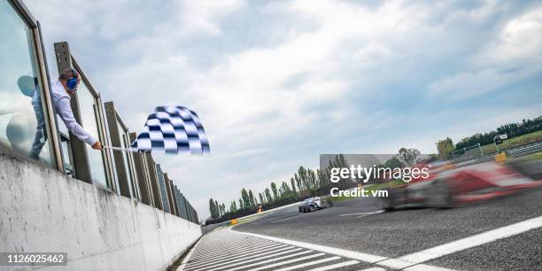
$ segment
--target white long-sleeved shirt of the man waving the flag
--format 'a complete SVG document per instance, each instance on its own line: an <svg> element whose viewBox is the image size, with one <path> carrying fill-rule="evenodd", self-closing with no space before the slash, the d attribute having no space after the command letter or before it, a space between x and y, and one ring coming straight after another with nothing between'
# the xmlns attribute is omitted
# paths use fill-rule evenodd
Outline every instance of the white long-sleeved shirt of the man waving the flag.
<svg viewBox="0 0 542 271"><path fill-rule="evenodd" d="M52 82L50 87L50 92L52 93L53 102L57 109L57 113L64 121L66 128L68 128L68 130L70 130L74 136L77 136L79 140L85 143L90 145L97 143L97 139L85 131L85 129L83 129L75 120L74 112L72 112L72 105L70 105L71 97L67 94L62 83L57 80Z"/></svg>

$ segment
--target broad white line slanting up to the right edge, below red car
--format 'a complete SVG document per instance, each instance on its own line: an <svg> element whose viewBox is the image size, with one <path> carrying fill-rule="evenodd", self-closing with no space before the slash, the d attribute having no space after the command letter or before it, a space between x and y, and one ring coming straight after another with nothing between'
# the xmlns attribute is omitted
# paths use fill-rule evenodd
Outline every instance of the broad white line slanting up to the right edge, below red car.
<svg viewBox="0 0 542 271"><path fill-rule="evenodd" d="M415 252L405 255L399 259L386 259L379 262L378 265L392 268L410 267L431 259L437 259L448 254L461 252L478 245L491 243L501 238L515 236L530 229L540 227L542 227L542 216L538 216L537 218L527 221L517 222L505 227L491 229L484 233L477 234L475 236L468 236L447 244L437 245L433 248L423 250L422 252Z"/></svg>

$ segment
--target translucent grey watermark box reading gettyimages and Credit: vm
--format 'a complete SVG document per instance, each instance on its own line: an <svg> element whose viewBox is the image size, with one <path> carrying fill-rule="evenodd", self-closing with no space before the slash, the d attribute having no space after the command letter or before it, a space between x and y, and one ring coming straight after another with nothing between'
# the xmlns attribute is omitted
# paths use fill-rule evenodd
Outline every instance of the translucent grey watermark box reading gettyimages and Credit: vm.
<svg viewBox="0 0 542 271"><path fill-rule="evenodd" d="M430 178L429 159L407 149L398 154L321 154L319 177L331 197L388 197L395 186Z"/></svg>

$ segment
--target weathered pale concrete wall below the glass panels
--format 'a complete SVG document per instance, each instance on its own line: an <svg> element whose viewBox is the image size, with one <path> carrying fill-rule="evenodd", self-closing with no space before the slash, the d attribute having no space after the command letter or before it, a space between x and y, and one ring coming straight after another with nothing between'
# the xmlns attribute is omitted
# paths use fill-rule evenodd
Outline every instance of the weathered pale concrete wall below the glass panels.
<svg viewBox="0 0 542 271"><path fill-rule="evenodd" d="M0 252L67 252L67 267L40 270L165 270L201 234L195 223L0 146Z"/></svg>

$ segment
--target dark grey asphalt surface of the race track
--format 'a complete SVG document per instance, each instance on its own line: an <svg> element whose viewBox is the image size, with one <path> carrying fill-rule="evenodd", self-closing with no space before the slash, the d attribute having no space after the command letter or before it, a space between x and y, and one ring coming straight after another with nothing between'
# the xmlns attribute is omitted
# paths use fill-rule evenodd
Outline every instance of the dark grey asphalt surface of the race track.
<svg viewBox="0 0 542 271"><path fill-rule="evenodd" d="M197 245L195 254L207 250L211 252L207 253L211 258L205 260L213 260L215 255L209 249L223 247L229 252L226 245L240 239L256 238L242 234L252 233L386 258L399 258L542 216L542 189L522 191L484 203L448 210L410 208L391 213L376 213L377 211L379 210L376 208L376 202L372 198L345 200L332 208L314 213L298 213L297 207L284 208L268 213L258 220L238 225L233 228L235 231L228 228L215 230L211 235L205 236L202 244ZM445 267L459 270L542 270L541 240L542 228L534 228L487 244L449 253L423 264L430 268ZM254 249L258 251L262 248ZM303 248L300 251L306 250ZM243 256L246 252L231 252L230 256L241 255L239 257L246 258ZM303 262L334 256L337 257L332 253L326 253L319 258ZM254 260L258 260L258 257ZM341 257L296 269L308 270L351 260ZM383 268L379 270L391 269L363 261L341 269L360 270L371 267ZM253 267L246 269L251 268ZM280 267L269 269L276 268Z"/></svg>

